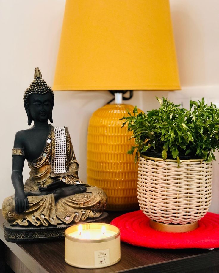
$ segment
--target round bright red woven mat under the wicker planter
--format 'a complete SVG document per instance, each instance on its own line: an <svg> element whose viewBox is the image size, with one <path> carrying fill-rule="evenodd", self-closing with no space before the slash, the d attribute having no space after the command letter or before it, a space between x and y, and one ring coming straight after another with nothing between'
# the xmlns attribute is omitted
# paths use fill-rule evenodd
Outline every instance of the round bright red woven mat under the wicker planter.
<svg viewBox="0 0 219 273"><path fill-rule="evenodd" d="M129 212L111 224L120 229L121 241L149 248L216 248L219 247L219 214L207 212L199 226L184 233L156 231L142 211Z"/></svg>

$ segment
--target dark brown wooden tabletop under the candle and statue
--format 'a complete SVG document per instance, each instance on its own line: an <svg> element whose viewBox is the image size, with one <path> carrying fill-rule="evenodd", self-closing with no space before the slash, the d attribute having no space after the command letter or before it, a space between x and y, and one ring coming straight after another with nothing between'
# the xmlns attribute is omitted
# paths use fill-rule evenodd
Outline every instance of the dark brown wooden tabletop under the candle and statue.
<svg viewBox="0 0 219 273"><path fill-rule="evenodd" d="M121 215L110 212L105 222ZM9 243L4 239L4 218L0 211L0 272L219 272L219 249L155 250L121 243L121 261L101 269L79 269L65 263L64 239L53 242ZM4 269L4 262L7 263Z"/></svg>

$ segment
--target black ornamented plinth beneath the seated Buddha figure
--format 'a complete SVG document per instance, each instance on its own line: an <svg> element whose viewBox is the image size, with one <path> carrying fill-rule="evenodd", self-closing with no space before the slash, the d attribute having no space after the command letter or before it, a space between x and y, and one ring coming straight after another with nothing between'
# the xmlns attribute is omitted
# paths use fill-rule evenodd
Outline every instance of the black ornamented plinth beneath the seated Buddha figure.
<svg viewBox="0 0 219 273"><path fill-rule="evenodd" d="M21 227L21 226L11 226L7 221L4 222L4 238L7 242L21 243L21 242L34 242L34 241L47 241L47 240L57 240L64 238L65 229L77 224L99 222L100 220L106 218L109 214L103 212L101 216L97 218L88 218L83 222L78 222L76 224L64 225L60 224L57 226L48 227Z"/></svg>

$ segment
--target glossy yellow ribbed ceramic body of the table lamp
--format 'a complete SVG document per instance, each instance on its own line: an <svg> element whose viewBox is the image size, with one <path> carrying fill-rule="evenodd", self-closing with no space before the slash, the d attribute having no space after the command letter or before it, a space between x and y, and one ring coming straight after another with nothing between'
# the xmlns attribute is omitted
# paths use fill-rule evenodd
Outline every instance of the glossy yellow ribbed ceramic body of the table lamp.
<svg viewBox="0 0 219 273"><path fill-rule="evenodd" d="M108 210L138 209L137 171L134 157L127 151L134 145L132 133L121 128L123 116L134 106L111 104L96 110L87 135L87 182L107 194Z"/></svg>

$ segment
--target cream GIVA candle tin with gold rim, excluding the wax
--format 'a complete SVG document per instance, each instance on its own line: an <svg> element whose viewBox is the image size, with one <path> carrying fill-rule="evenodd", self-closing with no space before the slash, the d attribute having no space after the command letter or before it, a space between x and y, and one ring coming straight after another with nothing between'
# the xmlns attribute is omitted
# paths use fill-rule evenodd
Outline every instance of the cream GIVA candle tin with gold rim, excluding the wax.
<svg viewBox="0 0 219 273"><path fill-rule="evenodd" d="M78 231L79 225L73 225L65 230L65 262L80 268L101 268L111 266L121 259L120 230L104 223L81 224L82 230L105 227L114 235L101 239L81 239L69 234Z"/></svg>

